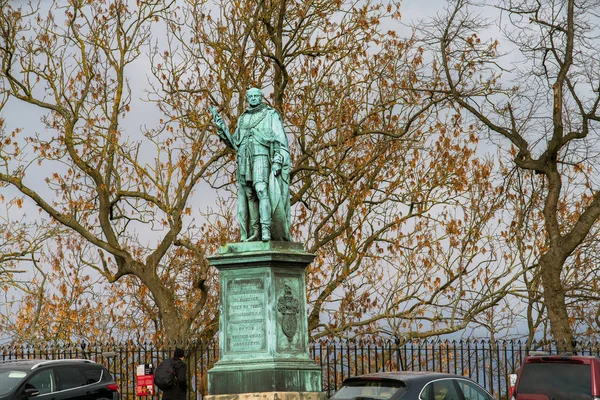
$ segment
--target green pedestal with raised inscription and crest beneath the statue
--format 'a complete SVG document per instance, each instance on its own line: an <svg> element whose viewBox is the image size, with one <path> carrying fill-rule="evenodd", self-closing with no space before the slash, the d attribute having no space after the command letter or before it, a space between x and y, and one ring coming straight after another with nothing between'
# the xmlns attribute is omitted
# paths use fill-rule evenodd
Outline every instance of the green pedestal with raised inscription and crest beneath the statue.
<svg viewBox="0 0 600 400"><path fill-rule="evenodd" d="M305 268L313 259L292 242L232 243L209 257L221 284L209 395L321 392L321 369L308 354Z"/></svg>

